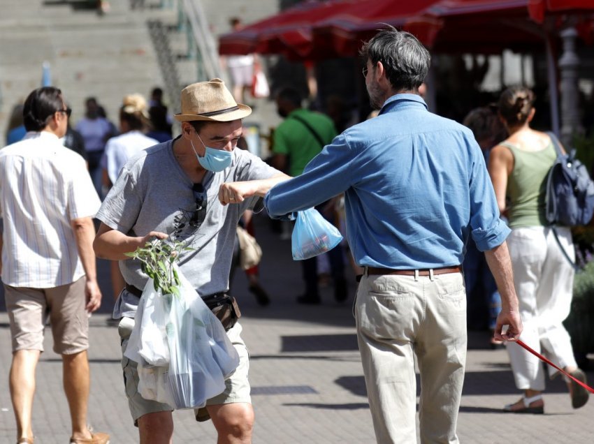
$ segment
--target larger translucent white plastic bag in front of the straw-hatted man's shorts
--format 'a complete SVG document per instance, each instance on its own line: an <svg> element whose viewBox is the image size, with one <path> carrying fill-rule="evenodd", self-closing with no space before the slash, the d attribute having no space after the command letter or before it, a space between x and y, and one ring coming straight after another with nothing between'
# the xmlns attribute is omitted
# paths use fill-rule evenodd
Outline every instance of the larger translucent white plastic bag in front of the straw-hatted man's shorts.
<svg viewBox="0 0 594 444"><path fill-rule="evenodd" d="M167 326L169 390L174 408L201 408L225 390L239 355L217 317L178 269L180 297L171 299Z"/></svg>

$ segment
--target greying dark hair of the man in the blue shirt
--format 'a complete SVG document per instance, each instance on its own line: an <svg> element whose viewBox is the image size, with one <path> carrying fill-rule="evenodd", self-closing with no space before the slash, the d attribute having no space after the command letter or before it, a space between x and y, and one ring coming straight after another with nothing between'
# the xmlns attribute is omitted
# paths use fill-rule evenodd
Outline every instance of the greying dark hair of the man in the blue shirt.
<svg viewBox="0 0 594 444"><path fill-rule="evenodd" d="M363 63L382 62L386 77L396 91L415 91L427 77L431 56L419 40L394 27L380 29L359 52Z"/></svg>

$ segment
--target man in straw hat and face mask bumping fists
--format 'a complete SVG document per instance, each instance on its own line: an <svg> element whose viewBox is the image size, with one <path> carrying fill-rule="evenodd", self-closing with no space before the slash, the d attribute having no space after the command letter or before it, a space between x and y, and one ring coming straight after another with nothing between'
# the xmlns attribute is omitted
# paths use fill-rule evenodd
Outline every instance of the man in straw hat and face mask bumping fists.
<svg viewBox="0 0 594 444"><path fill-rule="evenodd" d="M121 319L122 352L133 327L140 289L148 279L140 263L124 253L154 237L186 242L192 251L184 251L180 257L183 274L205 300L224 294L229 289L233 244L242 212L253 209L268 189L289 178L249 151L235 149L242 119L252 110L236 103L222 80L186 87L181 110L175 119L181 122L182 134L131 158L97 214L101 226L95 251L99 257L119 260L126 281L113 313ZM222 394L196 410L196 420L212 419L219 443L249 443L252 436L249 362L240 332L239 323L227 331L240 355L238 369L226 381ZM136 362L122 357L122 367L140 443L170 443L171 407L138 394Z"/></svg>

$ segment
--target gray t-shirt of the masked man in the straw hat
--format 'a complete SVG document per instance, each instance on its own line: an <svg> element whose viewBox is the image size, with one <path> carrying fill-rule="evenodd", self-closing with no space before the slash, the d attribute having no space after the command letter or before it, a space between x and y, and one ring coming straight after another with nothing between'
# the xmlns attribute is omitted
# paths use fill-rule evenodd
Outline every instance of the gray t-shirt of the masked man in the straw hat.
<svg viewBox="0 0 594 444"><path fill-rule="evenodd" d="M203 179L206 196L205 219L191 223L196 212L194 185L173 154L173 140L140 151L131 158L111 188L96 217L110 228L129 236L145 236L151 231L167 233L173 240L187 242L192 251L184 251L178 264L184 276L200 295L212 295L229 289L229 271L237 223L246 209L252 209L257 197L237 205L219 202L219 187L225 182L268 179L279 174L261 158L241 149L233 150L233 161L222 172L207 172ZM138 260L120 260L127 283L142 290L148 277ZM122 292L113 317L134 317L138 297Z"/></svg>

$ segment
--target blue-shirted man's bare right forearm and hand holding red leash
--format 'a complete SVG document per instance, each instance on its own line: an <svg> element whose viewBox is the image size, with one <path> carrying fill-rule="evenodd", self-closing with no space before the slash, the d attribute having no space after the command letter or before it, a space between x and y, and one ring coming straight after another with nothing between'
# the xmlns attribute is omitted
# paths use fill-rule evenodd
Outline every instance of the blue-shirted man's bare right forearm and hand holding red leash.
<svg viewBox="0 0 594 444"><path fill-rule="evenodd" d="M503 242L492 250L485 251L485 258L501 295L501 312L497 316L495 339L515 341L520 337L523 327L518 297L514 288L514 273L512 272L512 260L509 258L509 251L507 250L507 242ZM502 333L504 325L508 326L507 332Z"/></svg>

